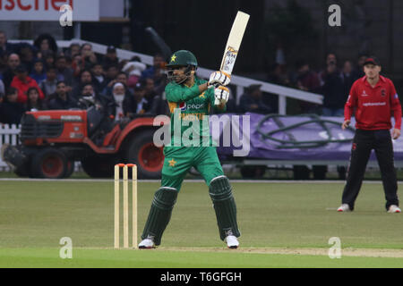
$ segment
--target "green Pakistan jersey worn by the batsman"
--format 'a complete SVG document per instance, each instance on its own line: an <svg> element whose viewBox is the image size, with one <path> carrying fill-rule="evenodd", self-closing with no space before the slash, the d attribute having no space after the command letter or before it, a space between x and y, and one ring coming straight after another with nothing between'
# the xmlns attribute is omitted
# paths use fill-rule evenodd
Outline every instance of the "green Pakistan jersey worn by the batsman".
<svg viewBox="0 0 403 286"><path fill-rule="evenodd" d="M171 82L165 88L171 113L171 147L194 146L196 141L200 147L206 142L211 146L209 122L204 115L209 115L214 107L214 88L200 94L199 86L205 82L195 76L193 87Z"/></svg>

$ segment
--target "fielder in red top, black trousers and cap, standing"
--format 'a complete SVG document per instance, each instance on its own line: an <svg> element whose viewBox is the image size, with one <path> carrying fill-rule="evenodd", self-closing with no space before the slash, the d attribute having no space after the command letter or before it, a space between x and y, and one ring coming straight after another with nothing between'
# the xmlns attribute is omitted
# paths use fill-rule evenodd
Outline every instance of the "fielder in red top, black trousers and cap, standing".
<svg viewBox="0 0 403 286"><path fill-rule="evenodd" d="M381 64L375 57L364 62L365 76L354 82L344 109L344 130L356 111L356 135L351 148L347 182L339 212L354 210L356 197L364 179L364 172L372 149L375 151L381 174L388 213L400 213L398 180L393 164L391 139L398 139L401 130L401 105L393 82L380 75ZM395 118L392 128L390 117Z"/></svg>

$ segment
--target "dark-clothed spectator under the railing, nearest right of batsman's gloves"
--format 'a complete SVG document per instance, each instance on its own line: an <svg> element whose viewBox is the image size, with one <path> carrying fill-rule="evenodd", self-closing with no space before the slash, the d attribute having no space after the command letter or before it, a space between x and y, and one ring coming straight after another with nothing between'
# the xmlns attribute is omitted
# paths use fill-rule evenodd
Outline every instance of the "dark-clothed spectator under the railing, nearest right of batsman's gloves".
<svg viewBox="0 0 403 286"><path fill-rule="evenodd" d="M262 90L260 84L250 85L245 88L239 103L241 113L270 114L271 107L262 101Z"/></svg>

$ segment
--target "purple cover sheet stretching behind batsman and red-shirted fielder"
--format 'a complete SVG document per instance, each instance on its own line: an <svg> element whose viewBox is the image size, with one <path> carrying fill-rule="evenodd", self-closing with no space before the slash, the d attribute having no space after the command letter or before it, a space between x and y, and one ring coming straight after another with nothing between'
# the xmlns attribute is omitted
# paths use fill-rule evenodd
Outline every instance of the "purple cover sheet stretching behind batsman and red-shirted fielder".
<svg viewBox="0 0 403 286"><path fill-rule="evenodd" d="M227 114L230 117L233 114ZM348 160L351 154L352 139L355 133L355 120L351 121L351 130L342 130L342 117L324 116L279 116L267 118L262 114L250 116L250 152L244 158L265 160ZM222 115L221 115L222 116ZM243 130L243 117L240 116L239 133ZM313 122L310 122L313 121ZM336 123L332 123L336 122ZM393 120L392 120L393 123ZM299 125L292 127L293 125ZM234 129L234 123L231 126ZM280 130L283 129L283 130ZM278 131L280 130L280 131ZM220 130L223 137L222 129ZM227 134L225 134L227 136ZM329 142L331 140L347 140ZM220 141L223 139L221 138ZM233 141L231 140L231 143ZM300 144L301 142L306 142ZM403 138L393 140L395 159L403 160ZM233 158L233 152L240 147L222 147L217 151L221 159ZM375 159L374 154L371 160Z"/></svg>

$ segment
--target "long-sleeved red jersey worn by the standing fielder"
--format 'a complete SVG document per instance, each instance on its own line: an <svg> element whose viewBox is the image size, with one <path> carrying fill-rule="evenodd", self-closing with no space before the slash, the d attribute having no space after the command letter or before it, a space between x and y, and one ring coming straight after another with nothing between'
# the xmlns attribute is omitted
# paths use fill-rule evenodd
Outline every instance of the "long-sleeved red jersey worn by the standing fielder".
<svg viewBox="0 0 403 286"><path fill-rule="evenodd" d="M390 130L390 117L395 118L395 129L401 129L401 106L393 82L380 76L373 88L366 76L351 87L344 107L345 120L350 120L356 109L356 129Z"/></svg>

